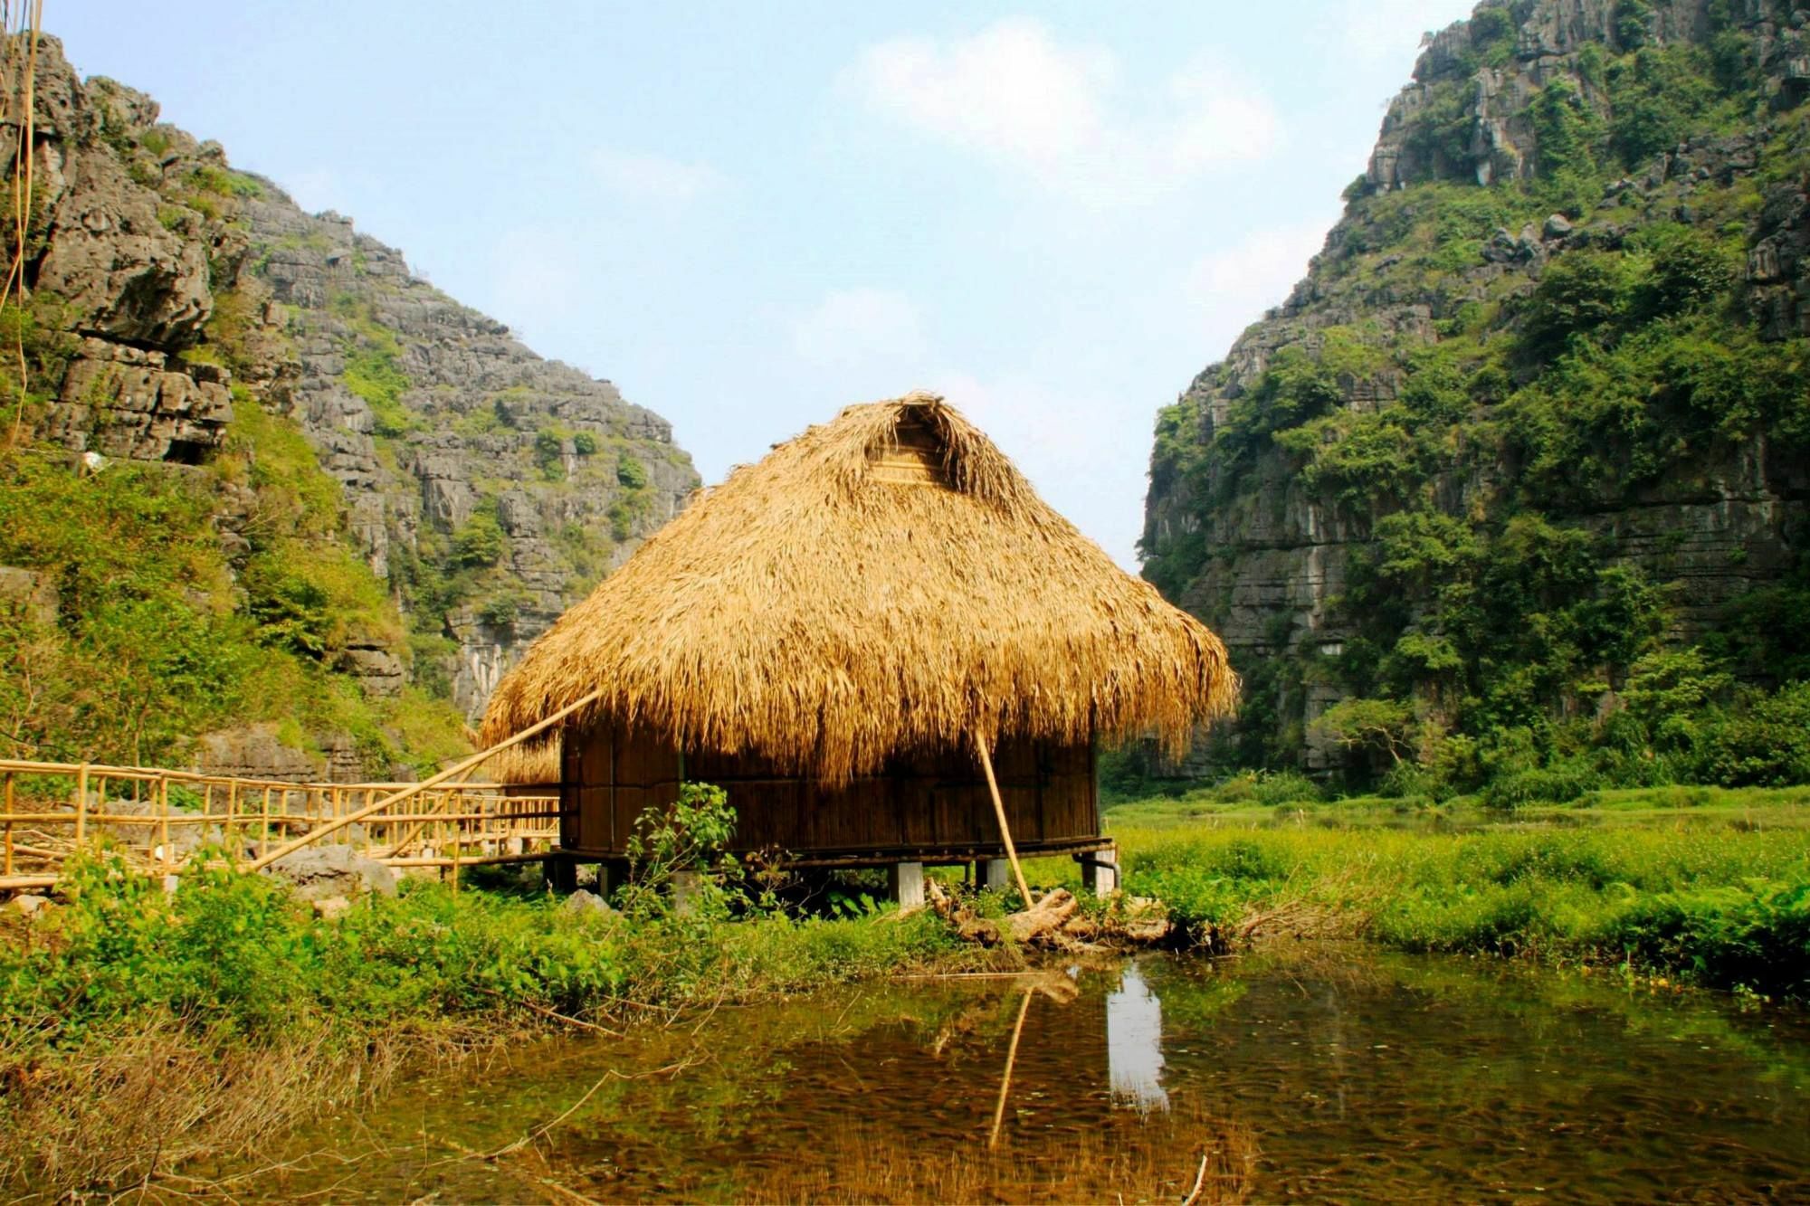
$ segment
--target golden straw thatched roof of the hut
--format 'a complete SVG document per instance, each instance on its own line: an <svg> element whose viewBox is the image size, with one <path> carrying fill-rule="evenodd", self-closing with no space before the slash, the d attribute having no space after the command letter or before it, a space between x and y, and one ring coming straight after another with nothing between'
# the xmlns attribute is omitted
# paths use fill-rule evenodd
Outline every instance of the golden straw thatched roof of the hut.
<svg viewBox="0 0 1810 1206"><path fill-rule="evenodd" d="M483 741L599 688L576 719L842 780L974 732L1153 732L1180 753L1238 681L1213 632L918 393L851 406L697 494L529 648Z"/></svg>

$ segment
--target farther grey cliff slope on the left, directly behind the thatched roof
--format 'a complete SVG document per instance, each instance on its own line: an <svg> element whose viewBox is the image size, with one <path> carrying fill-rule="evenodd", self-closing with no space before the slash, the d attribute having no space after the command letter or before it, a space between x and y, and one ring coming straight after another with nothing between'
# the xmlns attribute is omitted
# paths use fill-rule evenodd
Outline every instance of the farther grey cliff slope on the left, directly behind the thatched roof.
<svg viewBox="0 0 1810 1206"><path fill-rule="evenodd" d="M257 384L346 487L371 569L456 645L442 672L476 717L527 643L679 511L691 460L664 418L534 355L349 219L268 183L243 217L235 290L277 353ZM496 561L462 556L458 538L492 523ZM480 572L447 598L434 579L460 561Z"/></svg>

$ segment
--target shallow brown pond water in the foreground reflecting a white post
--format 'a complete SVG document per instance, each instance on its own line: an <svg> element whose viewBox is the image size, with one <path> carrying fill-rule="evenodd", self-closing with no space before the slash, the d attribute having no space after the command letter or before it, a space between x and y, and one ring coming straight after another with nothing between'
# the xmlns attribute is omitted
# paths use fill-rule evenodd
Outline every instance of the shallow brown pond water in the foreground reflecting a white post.
<svg viewBox="0 0 1810 1206"><path fill-rule="evenodd" d="M253 1201L1805 1201L1810 1016L1493 960L1146 956L536 1043L210 1173Z"/></svg>

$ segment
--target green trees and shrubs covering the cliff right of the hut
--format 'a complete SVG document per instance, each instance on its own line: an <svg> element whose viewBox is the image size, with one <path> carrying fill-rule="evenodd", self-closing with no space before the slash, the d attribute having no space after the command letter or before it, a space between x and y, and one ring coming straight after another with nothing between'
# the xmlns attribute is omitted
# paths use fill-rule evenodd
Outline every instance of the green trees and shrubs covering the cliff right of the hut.
<svg viewBox="0 0 1810 1206"><path fill-rule="evenodd" d="M1222 764L1343 750L1358 782L1488 782L1504 804L1806 782L1810 339L1779 281L1810 120L1788 14L1709 4L1707 40L1662 45L1622 4L1611 43L1538 87L1513 58L1522 7L1435 42L1310 292L1247 333L1280 344L1262 368L1209 369L1162 413L1146 576L1220 625L1265 491L1334 532L1343 572L1307 623L1234 641ZM1506 72L1486 112L1479 69ZM1763 563L1743 520L1685 556L1680 516L1718 505L1758 509Z"/></svg>

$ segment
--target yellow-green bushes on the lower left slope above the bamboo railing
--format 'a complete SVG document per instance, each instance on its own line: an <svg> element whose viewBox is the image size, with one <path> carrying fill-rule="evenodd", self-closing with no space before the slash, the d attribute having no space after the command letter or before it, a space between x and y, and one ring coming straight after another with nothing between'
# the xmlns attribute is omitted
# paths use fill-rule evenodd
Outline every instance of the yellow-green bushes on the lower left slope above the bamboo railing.
<svg viewBox="0 0 1810 1206"><path fill-rule="evenodd" d="M244 540L237 567L223 512ZM449 704L413 686L369 697L335 672L349 645L400 639L402 621L346 547L338 483L250 398L205 469L5 453L0 565L40 583L40 598L0 598L5 757L159 764L255 721L348 733L386 777L467 748Z"/></svg>

